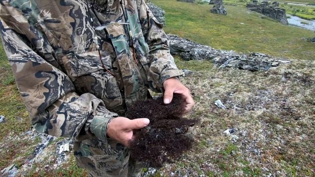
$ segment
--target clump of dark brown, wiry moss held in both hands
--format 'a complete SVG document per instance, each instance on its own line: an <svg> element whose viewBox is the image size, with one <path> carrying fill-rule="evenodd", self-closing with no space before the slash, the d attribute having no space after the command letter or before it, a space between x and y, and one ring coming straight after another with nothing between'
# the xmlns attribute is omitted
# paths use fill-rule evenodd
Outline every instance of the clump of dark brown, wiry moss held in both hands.
<svg viewBox="0 0 315 177"><path fill-rule="evenodd" d="M134 132L130 143L131 157L151 167L161 167L164 162L172 162L189 150L195 141L186 133L198 119L183 118L183 112L184 100L178 94L174 94L168 105L159 97L139 101L129 108L127 118L150 119L147 127Z"/></svg>

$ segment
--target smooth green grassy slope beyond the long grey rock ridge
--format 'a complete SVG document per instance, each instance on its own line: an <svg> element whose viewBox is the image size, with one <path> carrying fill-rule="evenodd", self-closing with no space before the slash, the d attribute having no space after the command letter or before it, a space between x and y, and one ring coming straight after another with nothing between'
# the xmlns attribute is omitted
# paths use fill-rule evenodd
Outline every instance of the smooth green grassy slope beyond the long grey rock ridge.
<svg viewBox="0 0 315 177"><path fill-rule="evenodd" d="M244 6L225 5L228 15L209 12L211 5L176 0L153 0L166 12L168 33L222 50L261 52L294 59L314 59L315 46L303 38L314 32L285 26ZM244 23L245 25L242 25Z"/></svg>

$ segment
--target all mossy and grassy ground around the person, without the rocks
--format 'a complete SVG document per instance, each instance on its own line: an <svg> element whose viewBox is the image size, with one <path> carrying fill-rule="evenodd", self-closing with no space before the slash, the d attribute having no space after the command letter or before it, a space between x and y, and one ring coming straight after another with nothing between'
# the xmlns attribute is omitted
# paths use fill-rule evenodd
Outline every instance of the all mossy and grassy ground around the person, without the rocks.
<svg viewBox="0 0 315 177"><path fill-rule="evenodd" d="M183 61L179 68L194 71L182 82L192 91L196 105L187 117L202 123L189 131L198 144L174 164L166 164L159 176L312 176L315 172L315 45L302 38L314 32L262 19L242 6L227 5L227 16L210 14L211 6L176 0L153 0L166 11L165 30L199 43L238 52L261 52L288 57L293 62L267 72L235 68L218 69L211 61ZM240 23L244 23L242 25ZM214 105L221 99L228 108ZM235 106L235 107L234 107ZM3 48L0 49L0 170L21 167L38 144L24 139L31 128L28 113L14 84ZM223 134L234 128L238 139ZM73 156L56 170L47 156L24 175L87 176ZM68 152L71 154L71 152Z"/></svg>

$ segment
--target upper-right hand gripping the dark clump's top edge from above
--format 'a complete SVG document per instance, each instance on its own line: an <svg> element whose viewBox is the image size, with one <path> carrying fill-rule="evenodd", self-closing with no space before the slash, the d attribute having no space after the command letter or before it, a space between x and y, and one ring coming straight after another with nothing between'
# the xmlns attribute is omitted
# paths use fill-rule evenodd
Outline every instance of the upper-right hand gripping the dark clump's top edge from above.
<svg viewBox="0 0 315 177"><path fill-rule="evenodd" d="M188 113L192 107L195 105L195 102L192 99L189 89L185 87L177 78L169 78L163 82L164 92L164 104L169 104L173 99L173 93L181 94L182 98L185 99L185 111Z"/></svg>

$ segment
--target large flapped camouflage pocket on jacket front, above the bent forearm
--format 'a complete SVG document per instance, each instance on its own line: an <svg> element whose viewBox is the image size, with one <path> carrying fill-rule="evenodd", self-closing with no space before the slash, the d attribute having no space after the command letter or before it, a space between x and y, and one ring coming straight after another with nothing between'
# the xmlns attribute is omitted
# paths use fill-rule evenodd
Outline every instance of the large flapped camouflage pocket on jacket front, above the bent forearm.
<svg viewBox="0 0 315 177"><path fill-rule="evenodd" d="M72 80L79 94L92 93L102 99L107 109L122 105L122 95L116 78L106 71L112 70L109 55L102 55L99 59L98 51L78 52L58 55L64 70Z"/></svg>

